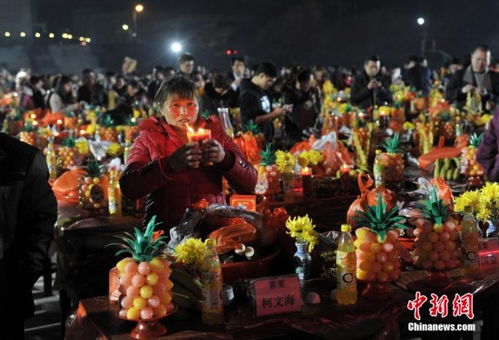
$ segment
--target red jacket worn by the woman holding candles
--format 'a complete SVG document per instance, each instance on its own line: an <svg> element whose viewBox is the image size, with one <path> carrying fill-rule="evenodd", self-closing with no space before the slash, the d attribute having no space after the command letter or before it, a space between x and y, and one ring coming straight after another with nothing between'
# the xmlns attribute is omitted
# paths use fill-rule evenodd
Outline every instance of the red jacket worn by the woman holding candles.
<svg viewBox="0 0 499 340"><path fill-rule="evenodd" d="M242 156L234 141L225 134L216 119L201 120L200 127L211 130L225 150L221 164L173 171L168 157L183 145L164 118L141 123L141 131L130 149L126 169L120 178L123 194L132 199L146 196L145 222L157 215L163 229L177 225L186 208L201 199L226 204L222 177L240 194L252 194L255 168Z"/></svg>

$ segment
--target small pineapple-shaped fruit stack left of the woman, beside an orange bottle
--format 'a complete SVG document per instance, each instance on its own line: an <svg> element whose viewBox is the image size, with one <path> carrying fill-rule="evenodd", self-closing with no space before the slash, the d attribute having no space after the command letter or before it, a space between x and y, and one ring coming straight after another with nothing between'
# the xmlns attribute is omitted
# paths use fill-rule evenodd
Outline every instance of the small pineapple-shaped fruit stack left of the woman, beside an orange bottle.
<svg viewBox="0 0 499 340"><path fill-rule="evenodd" d="M107 207L108 179L104 175L103 165L92 159L87 163L87 173L81 178L79 196L80 206L90 210L102 210Z"/></svg>

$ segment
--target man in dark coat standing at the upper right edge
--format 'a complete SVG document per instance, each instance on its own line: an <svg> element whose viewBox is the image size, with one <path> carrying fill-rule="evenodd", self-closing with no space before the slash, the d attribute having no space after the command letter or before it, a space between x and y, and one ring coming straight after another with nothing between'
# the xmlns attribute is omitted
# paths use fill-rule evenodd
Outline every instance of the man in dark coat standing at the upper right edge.
<svg viewBox="0 0 499 340"><path fill-rule="evenodd" d="M471 65L454 74L446 89L446 98L462 108L468 93L479 93L482 108L493 111L499 100L499 74L489 70L490 49L480 45L471 54Z"/></svg>

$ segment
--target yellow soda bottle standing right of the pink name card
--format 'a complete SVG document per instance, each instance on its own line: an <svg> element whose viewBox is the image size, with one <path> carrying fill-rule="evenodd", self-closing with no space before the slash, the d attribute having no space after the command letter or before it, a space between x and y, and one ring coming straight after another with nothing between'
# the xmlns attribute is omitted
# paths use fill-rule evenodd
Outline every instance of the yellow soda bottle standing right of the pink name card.
<svg viewBox="0 0 499 340"><path fill-rule="evenodd" d="M356 256L351 231L350 225L341 226L336 251L336 301L340 305L353 305L357 302Z"/></svg>

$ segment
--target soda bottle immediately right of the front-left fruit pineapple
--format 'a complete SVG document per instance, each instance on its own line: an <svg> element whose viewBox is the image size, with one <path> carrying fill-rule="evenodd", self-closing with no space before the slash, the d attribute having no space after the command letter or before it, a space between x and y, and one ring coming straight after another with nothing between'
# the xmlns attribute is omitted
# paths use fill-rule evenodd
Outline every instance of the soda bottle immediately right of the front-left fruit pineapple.
<svg viewBox="0 0 499 340"><path fill-rule="evenodd" d="M207 325L220 325L224 322L224 305L222 300L222 267L215 249L214 239L206 240L207 253L201 265L201 319Z"/></svg>

